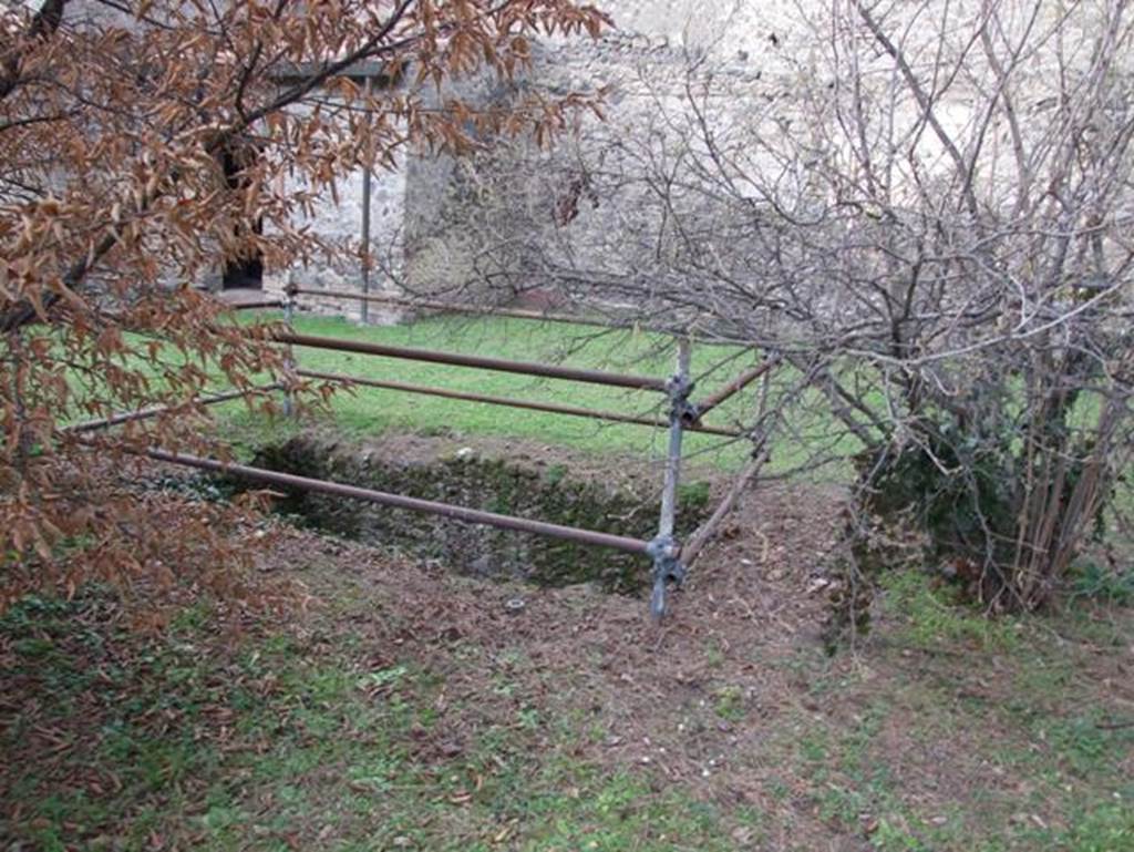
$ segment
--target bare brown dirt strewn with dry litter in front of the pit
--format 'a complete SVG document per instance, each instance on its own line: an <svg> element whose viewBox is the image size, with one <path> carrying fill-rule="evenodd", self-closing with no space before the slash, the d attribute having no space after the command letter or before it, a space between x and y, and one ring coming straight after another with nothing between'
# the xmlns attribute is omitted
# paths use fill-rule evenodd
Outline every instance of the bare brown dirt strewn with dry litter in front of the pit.
<svg viewBox="0 0 1134 852"><path fill-rule="evenodd" d="M1126 724L1134 718L1134 643L1117 649L1057 636L1061 650L1074 653L1077 670L1059 693L1046 695L1027 693L1030 686L1021 684L1027 664L1008 650L902 647L896 635L902 614L879 614L877 635L828 658L820 635L828 616L823 565L837 524L830 494L769 488L746 495L686 587L671 598L661 625L650 622L640 599L586 587L484 583L454 577L442 566L379 565L369 548L308 534L289 535L271 558L286 571L296 550L318 550L336 570L311 576L316 596L341 598L345 585L383 600L389 617L357 619L352 629L383 649L389 661L408 655L438 673L447 701L465 708L446 717L435 742L422 743L424 754L462 748L490 720L508 718L522 706L593 718L603 736L578 744L576 759L610 771L645 768L655 784L680 788L683 795L776 815L759 845L738 829L737 849L878 847L882 811L894 807L879 799L889 795L917 815L897 830L908 842L894 843L895 849L946 847L917 841L913 824L951 824L958 808L974 810L978 824L971 830L980 836L979 818L988 804L982 799L1001 799L1010 811L1006 818L1025 825L1065 821L1058 805L1029 812L1034 802L1023 792L1030 794L1034 783L988 759L983 749L998 742L1024 751L1050 748L1034 728L1021 729L1015 718L1001 718L991 708L1018 700L1073 712L1068 705L1082 709L1098 702L1098 709L1114 714L1100 724ZM1128 631L1129 623L1126 618L1122 630ZM475 657L455 655L469 646L479 649ZM523 683L522 700L485 691L509 653L510 675ZM926 707L934 701L947 703ZM846 756L838 753L845 744L837 741L860 734L869 742L855 746L886 767L888 792L861 796L864 810L850 815L828 801L821 787L853 790L870 782L856 781L857 767L839 766L828 775L811 771L816 767L809 764L845 764ZM797 765L798 743L809 737L820 744ZM824 739L833 742L824 745ZM1134 777L1129 737L1114 757L1118 777ZM848 776L841 782L840 770ZM818 793L816 775L826 778ZM964 847L965 836L962 830L956 847ZM1134 849L1134 834L1125 836L1131 845L1116 850Z"/></svg>

